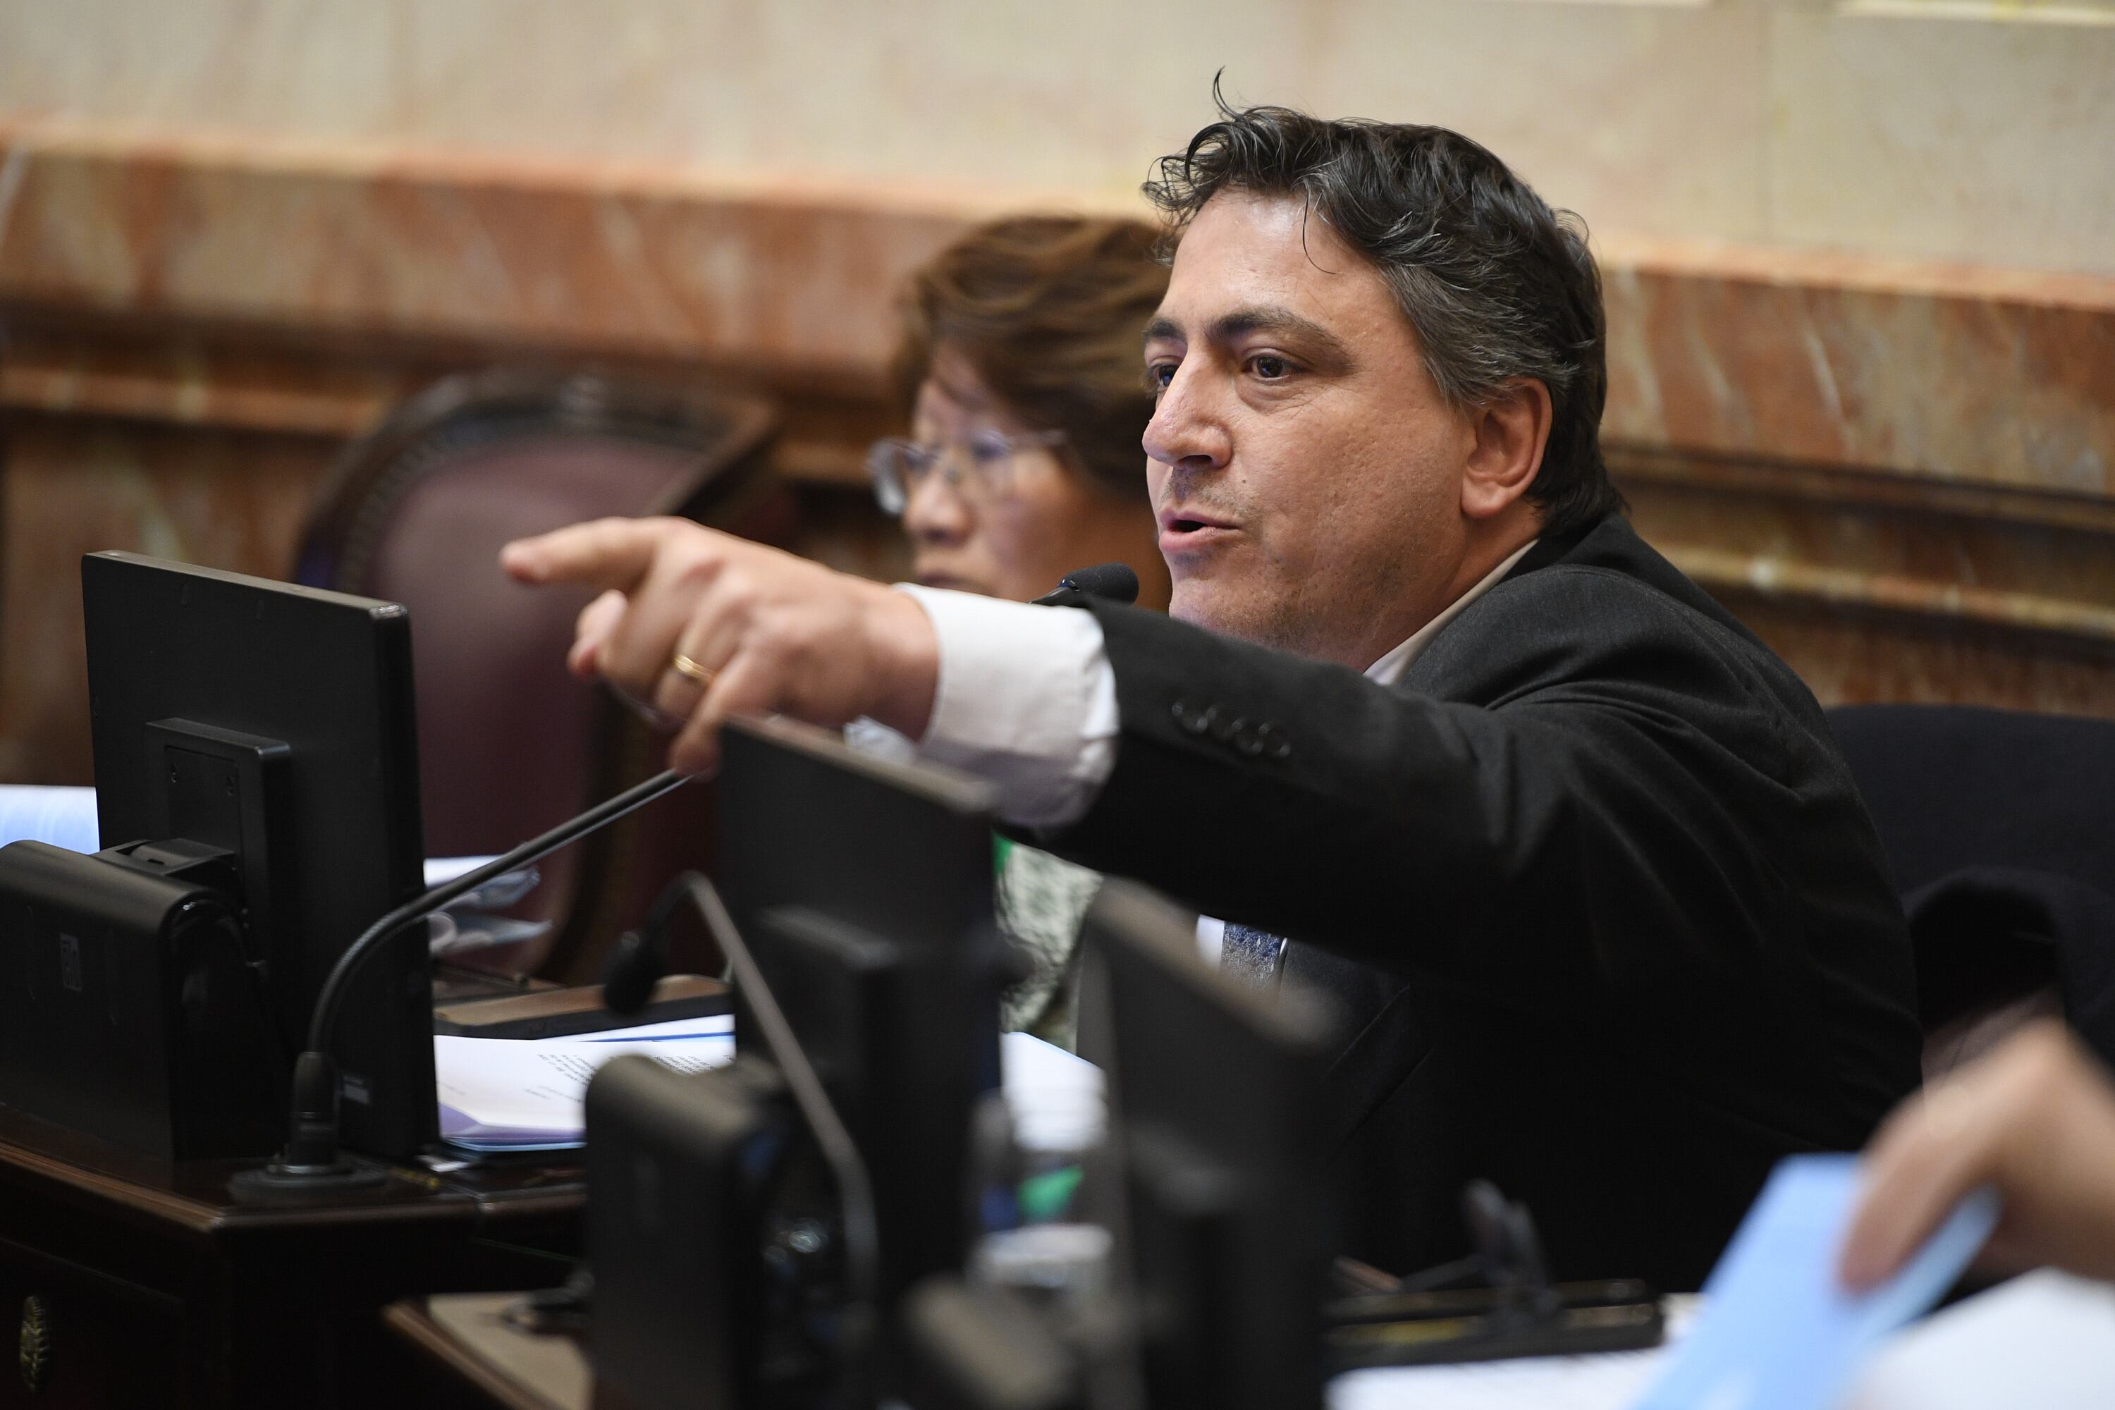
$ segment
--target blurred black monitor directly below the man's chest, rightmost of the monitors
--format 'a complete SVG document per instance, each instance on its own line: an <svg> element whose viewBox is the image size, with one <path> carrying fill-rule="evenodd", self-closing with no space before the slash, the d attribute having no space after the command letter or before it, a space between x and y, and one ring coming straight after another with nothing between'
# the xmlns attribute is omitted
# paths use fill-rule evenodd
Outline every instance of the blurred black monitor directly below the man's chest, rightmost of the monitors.
<svg viewBox="0 0 2115 1410"><path fill-rule="evenodd" d="M1157 894L1110 882L1081 1004L1106 1004L1125 1239L1155 1410L1322 1406L1335 1249L1320 1013L1197 953Z"/></svg>

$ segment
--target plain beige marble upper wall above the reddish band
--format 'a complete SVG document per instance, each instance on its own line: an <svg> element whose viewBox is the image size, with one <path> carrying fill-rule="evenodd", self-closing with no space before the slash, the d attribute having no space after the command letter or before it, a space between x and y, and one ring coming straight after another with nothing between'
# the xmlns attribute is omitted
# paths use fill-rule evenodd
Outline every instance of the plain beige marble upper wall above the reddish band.
<svg viewBox="0 0 2115 1410"><path fill-rule="evenodd" d="M1108 205L1225 70L1244 101L1459 127L1607 235L2115 273L2111 21L2107 0L0 0L0 120Z"/></svg>

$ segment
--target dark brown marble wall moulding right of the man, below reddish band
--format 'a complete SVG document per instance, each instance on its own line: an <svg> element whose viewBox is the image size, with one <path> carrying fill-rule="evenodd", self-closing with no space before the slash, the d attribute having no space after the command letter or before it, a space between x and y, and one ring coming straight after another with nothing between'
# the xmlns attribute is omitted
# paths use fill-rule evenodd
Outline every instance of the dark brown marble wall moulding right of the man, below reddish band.
<svg viewBox="0 0 2115 1410"><path fill-rule="evenodd" d="M1612 465L1639 533L1823 700L2028 708L2045 691L2035 708L2115 717L2109 501L1622 450Z"/></svg>

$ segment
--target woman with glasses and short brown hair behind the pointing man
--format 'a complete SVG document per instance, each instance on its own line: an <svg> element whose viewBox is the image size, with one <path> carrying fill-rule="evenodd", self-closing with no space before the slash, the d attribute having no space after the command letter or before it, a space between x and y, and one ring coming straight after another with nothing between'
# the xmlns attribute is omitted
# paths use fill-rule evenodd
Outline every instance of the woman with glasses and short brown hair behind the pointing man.
<svg viewBox="0 0 2115 1410"><path fill-rule="evenodd" d="M935 588L1030 600L1074 569L1127 562L1167 609L1140 438L1138 338L1167 290L1136 220L1022 216L979 226L912 275L897 387L907 440L876 442L873 495ZM1079 922L1102 877L998 843L998 911L1026 977L1007 1027L1070 1046Z"/></svg>

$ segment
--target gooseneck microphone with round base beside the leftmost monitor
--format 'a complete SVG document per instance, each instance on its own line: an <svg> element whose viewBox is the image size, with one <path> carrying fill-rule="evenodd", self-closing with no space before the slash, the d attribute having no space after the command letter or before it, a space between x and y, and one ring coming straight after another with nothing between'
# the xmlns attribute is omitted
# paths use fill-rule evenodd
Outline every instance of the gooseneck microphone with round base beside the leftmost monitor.
<svg viewBox="0 0 2115 1410"><path fill-rule="evenodd" d="M666 769L632 784L624 793L596 803L588 812L560 822L541 837L531 837L505 856L495 856L476 871L465 871L446 886L419 892L398 909L389 911L360 932L324 979L315 996L315 1010L309 1019L309 1046L294 1059L294 1101L288 1116L286 1148L262 1169L239 1171L228 1184L245 1196L279 1196L343 1190L362 1184L376 1184L383 1173L355 1165L338 1144L338 1065L330 1057L330 1029L338 1017L345 987L360 970L362 962L434 911L467 896L486 882L518 871L541 860L569 841L586 837L599 827L615 822L624 814L645 808L664 793L673 793L689 782L689 774Z"/></svg>

